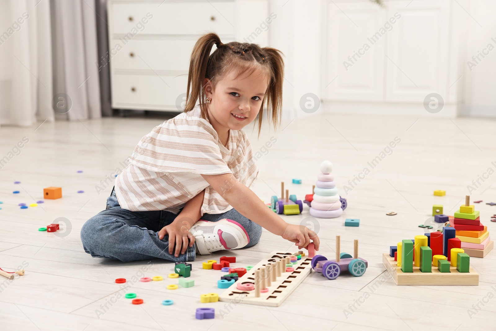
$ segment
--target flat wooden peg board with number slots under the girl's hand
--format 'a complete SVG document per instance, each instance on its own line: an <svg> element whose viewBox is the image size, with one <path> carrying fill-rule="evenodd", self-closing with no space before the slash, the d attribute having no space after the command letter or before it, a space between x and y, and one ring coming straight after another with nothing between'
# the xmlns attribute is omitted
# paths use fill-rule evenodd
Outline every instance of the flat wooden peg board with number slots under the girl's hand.
<svg viewBox="0 0 496 331"><path fill-rule="evenodd" d="M292 253L279 253L279 251L272 252L269 257L265 260L260 261L251 270L247 271L243 277L238 278L238 281L231 285L228 289L224 291L219 296L220 301L233 301L236 303L248 303L251 305L264 305L277 307L286 300L286 298L295 290L298 285L310 274L311 271L311 258L304 256L298 261L296 265L293 265L295 271L293 272L283 272L280 277L277 277L275 281L272 281L271 286L267 286L269 289L266 293L260 293L260 297L255 298L255 291L242 291L237 289L237 283L239 282L251 282L255 283L255 270L259 269L262 265L267 265L271 262L276 262L280 260L279 257L286 257L293 255Z"/></svg>

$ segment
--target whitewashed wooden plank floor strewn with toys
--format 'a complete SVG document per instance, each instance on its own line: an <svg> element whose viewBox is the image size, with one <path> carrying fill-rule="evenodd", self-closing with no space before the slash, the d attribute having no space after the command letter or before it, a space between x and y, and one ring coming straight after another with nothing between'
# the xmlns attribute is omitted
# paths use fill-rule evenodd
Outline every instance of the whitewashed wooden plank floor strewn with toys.
<svg viewBox="0 0 496 331"><path fill-rule="evenodd" d="M12 282L0 278L0 330L496 329L495 251L485 259L471 258L471 265L480 273L479 286L396 286L381 264L382 253L388 252L389 246L423 234L418 225L430 216L433 203L443 204L445 213L452 214L468 194L472 180L488 168L496 170L494 120L319 114L283 123L281 129L287 127L277 134L264 131L258 141L256 134L246 130L255 150L272 135L277 138L257 161L261 178L254 190L265 201L280 192L281 181L291 194L303 199L311 193L320 162L333 162L340 194L349 206L342 217L316 222L322 242L319 253L333 257L335 235L341 235L342 252L351 252L353 240L359 239L359 255L369 261L362 277L342 275L326 280L312 272L276 308L201 304L200 294L222 291L216 287L221 272L201 268L212 256L199 256L192 263L194 287L171 291L166 285L177 279L166 277L173 271L173 264L167 261L124 264L92 258L83 251L81 226L104 209L112 189L109 184L98 194L96 186L116 168L123 169L120 162L136 142L163 120L106 118L45 122L36 131L41 122L32 128L1 128L0 158L23 136L29 142L0 170L0 267L13 271L25 265L26 269L24 276ZM401 142L372 169L368 162L380 156L395 137ZM346 195L344 185L365 167L370 174L360 183L356 181L358 185ZM83 173L76 173L78 170ZM291 184L292 178L301 178L303 184ZM489 218L496 214L496 206L485 203L496 202L495 179L492 174L484 183L479 181L482 185L474 186L472 192L472 199L484 200L476 208L492 232L496 224ZM14 185L14 181L21 184ZM42 199L43 188L48 186L62 187L63 198L45 200L36 208L19 208L19 202ZM446 196L434 197L436 189L446 190ZM21 193L14 195L14 190ZM78 190L85 192L77 194ZM386 216L388 211L398 214ZM303 214L284 219L310 225L309 216L305 205ZM69 220L71 231L61 236L38 232L58 217ZM360 227L344 227L345 218L360 218ZM215 258L235 255L235 266L255 265L268 252L286 249L297 250L265 231L254 247L218 252ZM114 280L131 279L147 264L151 266L146 275L162 275L164 281L137 282L125 288L124 292L135 292L144 299L142 305L132 305L125 298L116 300L120 287ZM174 305L161 305L165 299L174 300ZM105 304L108 309L104 311ZM216 309L216 318L195 320L195 309L205 306Z"/></svg>

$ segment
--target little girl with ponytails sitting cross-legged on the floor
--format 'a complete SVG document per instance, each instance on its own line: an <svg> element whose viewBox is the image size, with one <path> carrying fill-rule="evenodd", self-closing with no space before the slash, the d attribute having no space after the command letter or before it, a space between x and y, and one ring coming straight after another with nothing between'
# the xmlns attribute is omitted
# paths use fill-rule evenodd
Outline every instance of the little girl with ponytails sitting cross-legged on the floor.
<svg viewBox="0 0 496 331"><path fill-rule="evenodd" d="M269 122L279 124L281 54L256 44L223 44L215 33L198 39L184 112L136 145L107 208L81 229L86 253L123 262L193 261L196 253L253 246L262 227L299 249L312 239L318 250L313 231L286 223L249 189L258 168L242 129L258 116L260 134L264 105Z"/></svg>

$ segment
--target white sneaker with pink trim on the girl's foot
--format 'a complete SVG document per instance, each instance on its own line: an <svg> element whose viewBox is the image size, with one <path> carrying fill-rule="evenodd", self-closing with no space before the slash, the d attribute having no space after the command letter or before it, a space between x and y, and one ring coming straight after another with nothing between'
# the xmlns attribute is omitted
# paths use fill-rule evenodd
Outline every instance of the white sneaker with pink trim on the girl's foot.
<svg viewBox="0 0 496 331"><path fill-rule="evenodd" d="M232 219L217 222L199 220L189 229L199 254L243 248L249 243L247 230Z"/></svg>

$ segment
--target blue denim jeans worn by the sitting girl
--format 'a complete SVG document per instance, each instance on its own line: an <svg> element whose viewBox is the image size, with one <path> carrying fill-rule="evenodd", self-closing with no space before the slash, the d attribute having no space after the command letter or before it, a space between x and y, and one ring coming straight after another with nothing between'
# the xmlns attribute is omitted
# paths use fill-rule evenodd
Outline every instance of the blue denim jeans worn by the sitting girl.
<svg viewBox="0 0 496 331"><path fill-rule="evenodd" d="M130 262L135 260L165 259L174 262L194 261L195 246L188 247L178 258L169 254L169 236L162 240L158 231L177 217L166 210L130 211L121 208L114 189L107 199L107 208L84 223L81 241L84 251L96 258L109 258ZM216 222L229 218L240 223L248 232L249 243L255 245L262 227L240 214L234 208L222 214L203 214L201 219Z"/></svg>

